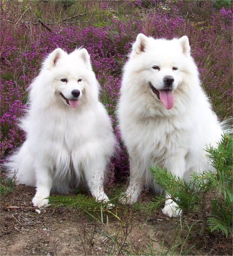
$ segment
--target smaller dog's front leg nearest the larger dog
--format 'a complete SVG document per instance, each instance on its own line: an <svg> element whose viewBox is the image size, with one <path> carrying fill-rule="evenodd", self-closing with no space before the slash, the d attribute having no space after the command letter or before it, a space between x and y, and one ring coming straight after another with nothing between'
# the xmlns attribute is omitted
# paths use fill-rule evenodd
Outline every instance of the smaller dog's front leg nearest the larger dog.
<svg viewBox="0 0 233 256"><path fill-rule="evenodd" d="M88 188L92 196L95 196L97 201L109 201L108 196L104 192L104 174L106 163L105 160L89 161L89 164L84 171Z"/></svg>

